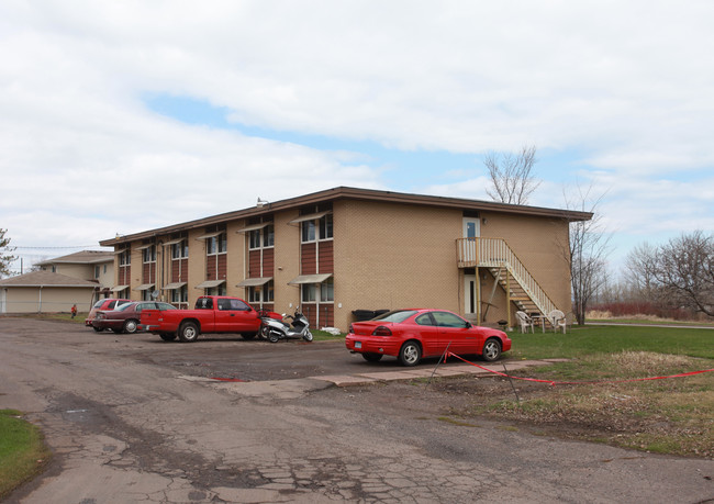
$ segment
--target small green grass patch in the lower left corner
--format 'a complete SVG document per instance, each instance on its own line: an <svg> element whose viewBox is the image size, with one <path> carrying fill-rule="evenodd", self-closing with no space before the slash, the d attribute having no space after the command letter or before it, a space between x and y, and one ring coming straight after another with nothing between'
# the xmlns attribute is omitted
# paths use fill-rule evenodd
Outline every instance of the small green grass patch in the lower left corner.
<svg viewBox="0 0 714 504"><path fill-rule="evenodd" d="M36 474L49 458L40 429L14 410L0 410L0 500Z"/></svg>

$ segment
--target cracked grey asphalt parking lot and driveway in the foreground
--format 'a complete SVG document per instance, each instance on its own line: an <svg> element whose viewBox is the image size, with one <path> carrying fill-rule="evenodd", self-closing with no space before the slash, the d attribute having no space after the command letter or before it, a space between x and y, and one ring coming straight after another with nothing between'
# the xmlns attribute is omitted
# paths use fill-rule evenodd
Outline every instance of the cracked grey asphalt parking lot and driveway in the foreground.
<svg viewBox="0 0 714 504"><path fill-rule="evenodd" d="M55 453L7 502L714 499L711 460L566 441L492 421L458 425L443 421L444 403L423 384L337 388L315 379L399 370L383 365L333 343L163 344L0 317L0 407L27 412ZM216 373L253 381L205 380Z"/></svg>

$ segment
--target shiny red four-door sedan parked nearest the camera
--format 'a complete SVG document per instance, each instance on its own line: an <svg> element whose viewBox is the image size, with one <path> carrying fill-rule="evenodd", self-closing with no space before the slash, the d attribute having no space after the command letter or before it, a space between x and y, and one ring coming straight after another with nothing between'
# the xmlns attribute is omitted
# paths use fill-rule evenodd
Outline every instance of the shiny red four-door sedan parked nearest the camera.
<svg viewBox="0 0 714 504"><path fill-rule="evenodd" d="M395 310L353 323L345 345L370 362L392 356L404 366L416 366L422 357L440 356L447 347L491 362L511 349L511 339L502 331L475 326L445 310Z"/></svg>

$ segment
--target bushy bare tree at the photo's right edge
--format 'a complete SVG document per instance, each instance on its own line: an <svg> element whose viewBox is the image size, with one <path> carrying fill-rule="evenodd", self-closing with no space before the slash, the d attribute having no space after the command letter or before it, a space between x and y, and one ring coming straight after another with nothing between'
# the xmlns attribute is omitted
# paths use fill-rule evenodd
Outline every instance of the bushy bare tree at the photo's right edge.
<svg viewBox="0 0 714 504"><path fill-rule="evenodd" d="M714 316L714 236L701 231L658 248L655 277L670 302Z"/></svg>

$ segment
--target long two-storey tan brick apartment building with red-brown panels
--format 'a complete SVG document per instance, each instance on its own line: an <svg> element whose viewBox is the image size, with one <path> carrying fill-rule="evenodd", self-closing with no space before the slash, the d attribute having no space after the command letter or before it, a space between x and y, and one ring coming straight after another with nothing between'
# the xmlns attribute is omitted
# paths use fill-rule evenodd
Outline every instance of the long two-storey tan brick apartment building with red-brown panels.
<svg viewBox="0 0 714 504"><path fill-rule="evenodd" d="M100 242L118 298L227 294L347 331L354 311L438 307L478 324L571 311L573 212L335 188Z"/></svg>

